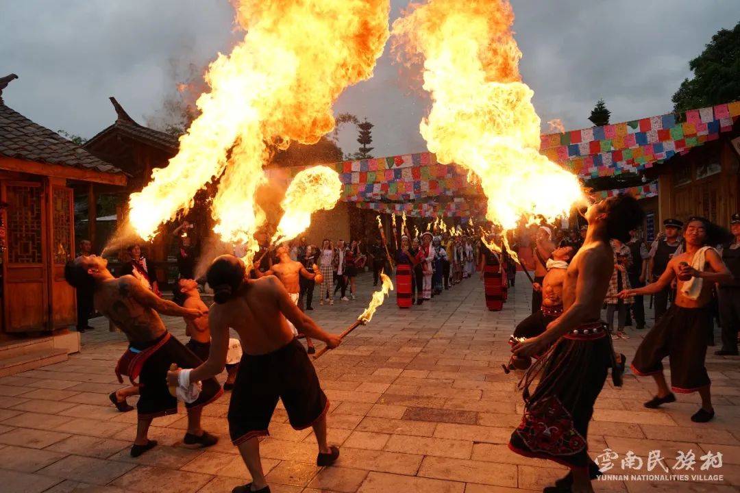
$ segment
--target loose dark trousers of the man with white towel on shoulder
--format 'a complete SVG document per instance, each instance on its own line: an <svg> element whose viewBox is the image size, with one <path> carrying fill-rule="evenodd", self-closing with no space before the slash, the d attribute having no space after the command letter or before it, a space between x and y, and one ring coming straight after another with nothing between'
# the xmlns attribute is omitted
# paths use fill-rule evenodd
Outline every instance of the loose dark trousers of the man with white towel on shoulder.
<svg viewBox="0 0 740 493"><path fill-rule="evenodd" d="M710 307L684 308L672 305L642 339L632 360L636 375L663 370L670 357L670 387L673 392L696 392L710 384L704 360L707 341L714 327Z"/></svg>

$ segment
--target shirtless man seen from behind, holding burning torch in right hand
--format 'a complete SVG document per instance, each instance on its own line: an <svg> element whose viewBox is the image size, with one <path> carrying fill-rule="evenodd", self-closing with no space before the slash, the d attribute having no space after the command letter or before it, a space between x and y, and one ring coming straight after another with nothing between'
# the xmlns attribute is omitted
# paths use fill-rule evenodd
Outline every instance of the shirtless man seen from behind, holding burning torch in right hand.
<svg viewBox="0 0 740 493"><path fill-rule="evenodd" d="M330 466L339 457L339 449L326 442L329 400L286 318L300 332L325 341L329 347L337 347L341 340L298 310L275 276L253 281L245 279L245 274L243 262L232 255L216 258L206 273L215 292L215 305L209 313L211 353L208 361L189 371L186 383L221 373L229 346L229 327L236 330L244 354L229 404L229 435L252 475L252 483L237 486L232 493L269 493L258 438L268 435L279 398L295 429L313 427L319 448L317 466ZM167 379L169 384L178 384L180 370L170 372Z"/></svg>

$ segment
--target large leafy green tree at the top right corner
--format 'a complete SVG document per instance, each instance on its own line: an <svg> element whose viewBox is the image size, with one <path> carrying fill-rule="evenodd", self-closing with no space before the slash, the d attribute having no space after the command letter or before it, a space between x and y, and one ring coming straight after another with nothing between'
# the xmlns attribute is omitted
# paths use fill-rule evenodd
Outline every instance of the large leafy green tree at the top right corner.
<svg viewBox="0 0 740 493"><path fill-rule="evenodd" d="M713 35L689 68L693 78L684 79L670 98L674 112L740 100L740 22Z"/></svg>

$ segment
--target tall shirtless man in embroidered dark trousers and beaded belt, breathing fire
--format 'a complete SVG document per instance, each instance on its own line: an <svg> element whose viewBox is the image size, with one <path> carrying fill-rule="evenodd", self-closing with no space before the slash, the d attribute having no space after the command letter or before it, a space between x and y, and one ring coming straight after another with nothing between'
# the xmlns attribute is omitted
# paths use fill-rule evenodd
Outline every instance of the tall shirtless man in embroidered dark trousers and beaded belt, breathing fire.
<svg viewBox="0 0 740 493"><path fill-rule="evenodd" d="M614 378L614 353L604 322L602 303L614 268L612 238L627 241L630 229L644 217L634 197L619 194L591 205L586 211L586 240L565 271L563 313L539 336L517 342L519 357L542 354L526 381L541 373L529 395L525 388L522 424L511 434L509 448L521 455L554 460L571 468L556 481L556 491L593 492L591 477L598 467L588 457L588 422L608 367ZM544 369L544 370L543 370ZM556 430L552 435L542 429Z"/></svg>

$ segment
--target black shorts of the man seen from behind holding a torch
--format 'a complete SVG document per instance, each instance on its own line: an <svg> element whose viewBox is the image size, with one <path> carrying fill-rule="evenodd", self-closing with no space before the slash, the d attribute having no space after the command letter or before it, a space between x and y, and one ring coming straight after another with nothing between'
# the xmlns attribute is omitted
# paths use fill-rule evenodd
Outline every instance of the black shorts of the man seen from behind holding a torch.
<svg viewBox="0 0 740 493"><path fill-rule="evenodd" d="M329 409L314 365L297 339L272 353L242 356L229 404L229 435L235 445L269 435L278 398L294 429L312 426Z"/></svg>

